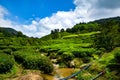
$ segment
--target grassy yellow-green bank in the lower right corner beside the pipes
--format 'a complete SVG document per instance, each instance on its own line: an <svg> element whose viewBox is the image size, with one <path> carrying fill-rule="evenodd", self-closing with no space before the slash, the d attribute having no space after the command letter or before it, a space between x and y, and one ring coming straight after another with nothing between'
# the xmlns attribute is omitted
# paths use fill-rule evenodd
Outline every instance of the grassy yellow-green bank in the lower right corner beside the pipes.
<svg viewBox="0 0 120 80"><path fill-rule="evenodd" d="M120 80L120 77L117 75L119 72L117 73L117 70L110 71L107 67L110 63L114 63L114 55L118 50L120 50L119 47L109 53L104 53L101 58L91 60L92 66L87 70L87 73L84 72L82 75L79 75L78 78L80 79L78 80L81 80L81 78L90 80L91 77L95 77L101 71L105 71L105 74L101 75L98 80Z"/></svg>

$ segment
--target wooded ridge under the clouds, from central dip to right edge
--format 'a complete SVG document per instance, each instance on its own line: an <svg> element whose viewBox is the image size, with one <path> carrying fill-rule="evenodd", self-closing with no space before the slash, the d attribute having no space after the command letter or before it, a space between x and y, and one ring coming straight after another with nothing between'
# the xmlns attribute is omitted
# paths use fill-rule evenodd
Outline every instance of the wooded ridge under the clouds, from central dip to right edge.
<svg viewBox="0 0 120 80"><path fill-rule="evenodd" d="M104 19L99 19L92 22L88 22L88 23L79 23L74 25L72 28L67 28L67 29L61 29L61 30L54 29L54 30L51 30L51 34L43 36L41 39L45 39L45 40L57 39L57 38L62 38L63 36L66 36L66 35L101 31L101 28L103 27L103 25L110 24L109 22L114 22L113 25L120 24L120 17L104 18Z"/></svg>

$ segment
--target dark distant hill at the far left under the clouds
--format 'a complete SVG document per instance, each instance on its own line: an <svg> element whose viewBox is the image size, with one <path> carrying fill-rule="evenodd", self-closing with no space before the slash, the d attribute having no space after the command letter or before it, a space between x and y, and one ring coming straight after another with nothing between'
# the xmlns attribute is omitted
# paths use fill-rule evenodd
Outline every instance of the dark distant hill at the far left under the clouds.
<svg viewBox="0 0 120 80"><path fill-rule="evenodd" d="M0 36L2 37L27 37L20 31L16 31L12 28L0 27Z"/></svg>

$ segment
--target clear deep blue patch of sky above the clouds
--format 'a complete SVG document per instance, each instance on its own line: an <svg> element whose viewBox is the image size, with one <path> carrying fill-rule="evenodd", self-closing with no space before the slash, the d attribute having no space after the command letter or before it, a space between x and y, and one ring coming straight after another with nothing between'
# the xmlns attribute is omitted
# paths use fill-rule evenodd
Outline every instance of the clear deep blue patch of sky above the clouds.
<svg viewBox="0 0 120 80"><path fill-rule="evenodd" d="M0 5L7 8L11 19L17 16L20 22L25 20L44 18L57 11L69 11L74 9L73 0L0 0Z"/></svg>

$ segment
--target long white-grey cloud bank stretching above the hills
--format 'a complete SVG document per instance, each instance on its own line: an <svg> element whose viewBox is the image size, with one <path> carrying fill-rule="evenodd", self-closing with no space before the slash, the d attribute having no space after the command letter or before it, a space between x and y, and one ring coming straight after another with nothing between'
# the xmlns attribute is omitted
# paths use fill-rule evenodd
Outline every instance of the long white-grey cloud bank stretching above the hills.
<svg viewBox="0 0 120 80"><path fill-rule="evenodd" d="M36 20L32 20L29 25L18 24L10 19L5 19L5 15L8 15L9 12L4 7L0 6L0 26L20 30L28 36L41 37L49 34L50 30L56 28L68 28L73 27L80 22L119 16L120 5L114 5L114 8L110 7L110 5L113 5L118 1L119 0L116 0L115 2L113 0L74 0L76 6L74 10L57 11L50 17L42 19L36 18ZM107 2L109 3L108 6L105 5Z"/></svg>

